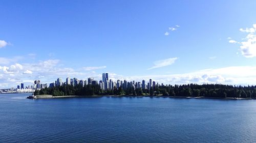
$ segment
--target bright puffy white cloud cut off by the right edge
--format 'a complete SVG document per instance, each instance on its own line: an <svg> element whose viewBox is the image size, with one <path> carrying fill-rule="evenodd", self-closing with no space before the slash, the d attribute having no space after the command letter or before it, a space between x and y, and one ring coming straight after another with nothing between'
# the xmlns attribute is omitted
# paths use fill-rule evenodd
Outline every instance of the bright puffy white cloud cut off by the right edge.
<svg viewBox="0 0 256 143"><path fill-rule="evenodd" d="M246 58L253 58L256 56L256 24L253 24L251 28L240 28L241 32L249 33L241 42L230 40L229 43L239 43L240 51Z"/></svg>

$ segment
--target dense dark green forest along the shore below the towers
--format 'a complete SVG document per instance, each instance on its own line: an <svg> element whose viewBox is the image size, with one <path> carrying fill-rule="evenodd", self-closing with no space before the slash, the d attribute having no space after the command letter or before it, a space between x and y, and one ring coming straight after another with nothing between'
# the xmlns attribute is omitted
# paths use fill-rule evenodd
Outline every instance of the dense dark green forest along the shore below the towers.
<svg viewBox="0 0 256 143"><path fill-rule="evenodd" d="M96 85L65 85L53 88L45 88L36 90L34 95L49 94L52 96L68 96L68 95L134 95L134 96L193 96L193 97L220 97L220 98L256 98L256 86L233 86L223 84L183 84L183 85L168 85L147 89L114 88L113 90L101 90L98 84Z"/></svg>

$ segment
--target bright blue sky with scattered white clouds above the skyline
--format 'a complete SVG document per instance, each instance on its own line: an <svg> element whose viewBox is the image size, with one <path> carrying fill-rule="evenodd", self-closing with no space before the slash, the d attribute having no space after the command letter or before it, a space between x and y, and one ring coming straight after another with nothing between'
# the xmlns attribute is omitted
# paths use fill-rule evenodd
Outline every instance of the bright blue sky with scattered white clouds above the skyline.
<svg viewBox="0 0 256 143"><path fill-rule="evenodd" d="M256 1L1 1L0 89L58 77L256 85Z"/></svg>

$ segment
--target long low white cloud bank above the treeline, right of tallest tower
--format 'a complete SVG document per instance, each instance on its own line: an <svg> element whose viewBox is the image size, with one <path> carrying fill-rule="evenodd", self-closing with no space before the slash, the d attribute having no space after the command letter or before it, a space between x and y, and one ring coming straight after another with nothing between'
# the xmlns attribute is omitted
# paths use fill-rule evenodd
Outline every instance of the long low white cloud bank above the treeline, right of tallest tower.
<svg viewBox="0 0 256 143"><path fill-rule="evenodd" d="M148 82L153 79L158 83L164 84L188 84L188 83L222 83L236 85L255 85L256 84L256 66L234 66L217 69L205 69L183 74L166 74L166 75L143 75L143 76L122 76L109 73L109 78L116 81L117 79L127 81Z"/></svg>

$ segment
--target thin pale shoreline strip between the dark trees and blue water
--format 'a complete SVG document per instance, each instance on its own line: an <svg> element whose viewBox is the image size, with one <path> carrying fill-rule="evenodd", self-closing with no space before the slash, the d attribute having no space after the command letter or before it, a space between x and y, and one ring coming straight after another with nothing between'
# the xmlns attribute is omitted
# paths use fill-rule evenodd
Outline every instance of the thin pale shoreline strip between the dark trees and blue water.
<svg viewBox="0 0 256 143"><path fill-rule="evenodd" d="M134 95L88 95L88 96L80 96L80 95L69 95L69 96L52 96L52 95L37 95L34 97L27 97L28 99L54 99L54 98L92 98L92 97L163 97L163 98L188 98L188 99L223 99L223 100L254 100L256 98L221 98L221 97L192 97L192 96L134 96Z"/></svg>

